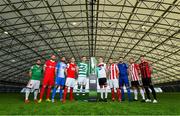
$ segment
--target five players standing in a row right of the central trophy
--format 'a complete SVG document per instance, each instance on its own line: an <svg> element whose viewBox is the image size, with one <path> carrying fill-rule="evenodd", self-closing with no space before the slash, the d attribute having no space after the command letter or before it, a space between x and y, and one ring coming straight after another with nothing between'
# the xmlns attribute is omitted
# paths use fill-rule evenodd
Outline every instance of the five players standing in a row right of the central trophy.
<svg viewBox="0 0 180 116"><path fill-rule="evenodd" d="M142 100L141 102L151 102L150 91L152 91L153 95L153 103L157 103L156 92L154 90L152 81L151 81L151 72L152 67L147 60L145 60L144 56L140 57L140 64L136 64L134 58L129 59L129 65L123 62L123 58L119 58L118 63L114 63L113 59L109 59L109 64L103 62L103 58L99 58L99 64L97 65L97 73L98 80L100 85L101 99L100 101L107 101L107 78L109 79L109 86L111 88L111 97L112 101L115 100L115 92L118 101L124 101L124 88L125 85L128 100L129 101L138 101L138 90L141 93ZM129 83L130 80L130 83ZM134 92L134 99L131 97L130 86ZM105 90L105 91L104 91ZM147 99L145 99L144 90L147 95ZM105 92L105 97L103 96L103 91Z"/></svg>

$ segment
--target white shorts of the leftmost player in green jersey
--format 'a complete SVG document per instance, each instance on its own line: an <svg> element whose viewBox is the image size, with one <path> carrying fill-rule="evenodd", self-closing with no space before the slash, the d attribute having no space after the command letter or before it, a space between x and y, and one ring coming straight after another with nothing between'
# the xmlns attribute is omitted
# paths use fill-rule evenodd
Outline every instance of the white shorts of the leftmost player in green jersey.
<svg viewBox="0 0 180 116"><path fill-rule="evenodd" d="M40 81L39 80L30 80L26 87L30 88L30 89L39 89Z"/></svg>

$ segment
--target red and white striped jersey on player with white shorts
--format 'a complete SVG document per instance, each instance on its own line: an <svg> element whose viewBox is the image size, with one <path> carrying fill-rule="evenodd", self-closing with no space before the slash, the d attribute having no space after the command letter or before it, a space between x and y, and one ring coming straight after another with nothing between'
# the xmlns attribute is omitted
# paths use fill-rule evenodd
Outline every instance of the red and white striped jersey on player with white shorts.
<svg viewBox="0 0 180 116"><path fill-rule="evenodd" d="M110 72L110 79L117 79L118 78L118 67L116 64L111 64L109 67L109 72Z"/></svg>

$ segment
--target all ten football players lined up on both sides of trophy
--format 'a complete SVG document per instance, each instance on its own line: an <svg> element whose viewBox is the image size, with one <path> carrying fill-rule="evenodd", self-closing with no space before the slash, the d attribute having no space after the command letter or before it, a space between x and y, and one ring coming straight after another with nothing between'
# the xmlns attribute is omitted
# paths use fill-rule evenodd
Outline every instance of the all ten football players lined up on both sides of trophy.
<svg viewBox="0 0 180 116"><path fill-rule="evenodd" d="M85 86L87 84L87 77L88 77L88 65L86 64L86 57L82 57L82 61L75 64L75 59L71 58L70 62L66 65L65 57L62 57L59 62L56 63L56 56L52 55L50 60L45 62L45 65L42 69L41 60L37 60L36 65L31 67L29 72L30 74L30 81L27 85L26 95L25 95L25 103L29 103L28 96L30 91L34 89L34 101L35 102L42 102L43 94L45 89L47 89L46 101L54 102L54 97L56 94L56 89L60 87L60 100L64 103L66 101L66 95L68 87L70 87L70 100L72 101L73 98L73 88L75 86L75 79L78 77L78 92L80 92L80 88L82 87L82 92L85 92ZM138 100L138 89L142 95L142 101L151 102L150 99L150 88L152 90L152 94L154 97L153 103L157 103L156 93L154 91L152 82L151 82L151 70L149 63L145 61L144 56L141 56L141 63L135 64L134 59L130 59L129 67L127 64L123 62L123 59L119 59L119 63L116 64L113 62L113 59L109 60L109 64L103 62L103 58L99 58L99 63L96 67L97 75L98 75L98 82L100 86L100 93L101 98L100 101L107 101L107 78L109 79L109 85L111 88L112 93L112 101L115 100L114 89L117 91L117 98L118 101L124 101L124 89L123 85L126 86L128 92L128 99L132 101L131 94L130 94L130 85L128 75L131 80L131 85L134 91L134 100ZM42 73L43 72L43 73ZM76 76L77 74L77 76ZM140 75L142 79L140 78ZM43 78L42 87L40 90L40 99L37 101L37 95L40 86L40 80ZM56 77L56 78L55 78ZM66 77L66 78L65 78ZM142 80L142 83L141 83ZM55 81L55 84L54 84ZM50 92L51 88L53 88L52 98L50 100ZM65 87L64 87L65 86ZM145 88L147 99L145 100L144 96L144 89ZM64 90L64 92L63 92ZM105 92L105 97L103 93Z"/></svg>

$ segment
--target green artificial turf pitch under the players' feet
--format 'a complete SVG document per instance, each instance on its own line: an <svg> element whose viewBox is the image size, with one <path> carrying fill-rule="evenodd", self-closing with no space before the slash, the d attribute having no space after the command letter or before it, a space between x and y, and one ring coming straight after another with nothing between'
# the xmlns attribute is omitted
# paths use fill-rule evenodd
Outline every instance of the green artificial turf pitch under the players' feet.
<svg viewBox="0 0 180 116"><path fill-rule="evenodd" d="M24 103L24 94L0 93L0 114L71 114L71 115L172 115L180 114L180 93L160 93L157 95L159 103L141 103L124 101L111 102L83 102L67 100L65 104L60 101L41 104ZM32 99L32 96L31 96Z"/></svg>

